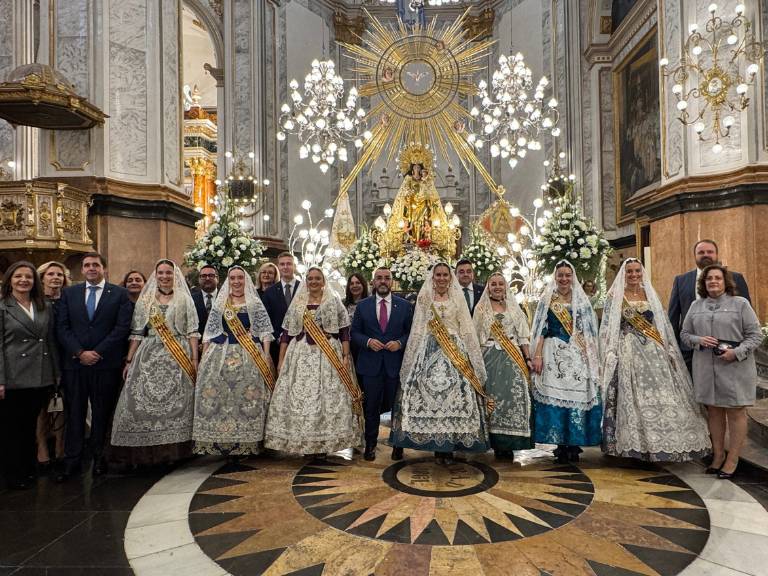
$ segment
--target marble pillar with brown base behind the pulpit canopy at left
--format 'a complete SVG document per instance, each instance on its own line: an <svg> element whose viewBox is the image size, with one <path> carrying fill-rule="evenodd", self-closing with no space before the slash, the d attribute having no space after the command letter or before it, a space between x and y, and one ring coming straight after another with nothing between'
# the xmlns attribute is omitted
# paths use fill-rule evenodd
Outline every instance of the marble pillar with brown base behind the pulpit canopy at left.
<svg viewBox="0 0 768 576"><path fill-rule="evenodd" d="M181 0L40 3L40 61L109 118L88 131L42 131L39 173L94 194L90 226L113 272L181 260L194 235L183 186L181 9Z"/></svg>

